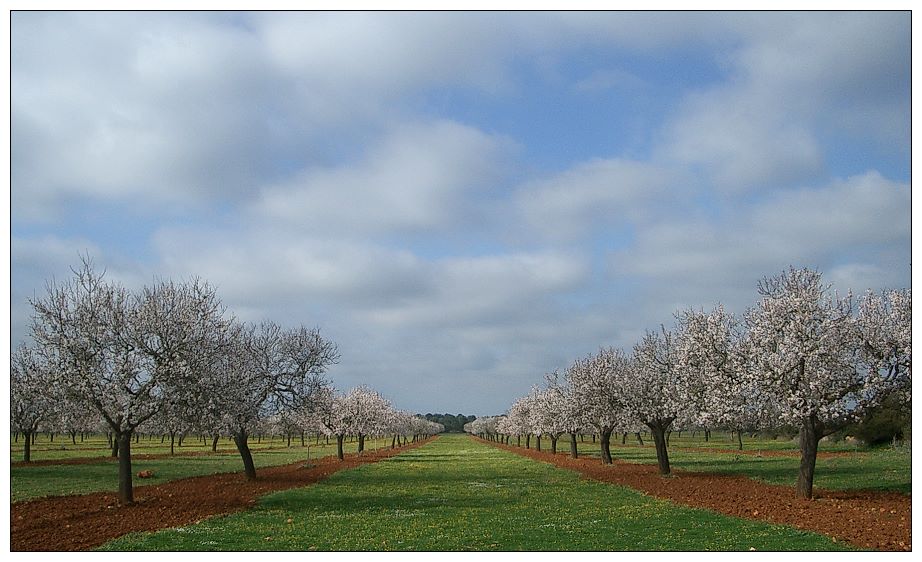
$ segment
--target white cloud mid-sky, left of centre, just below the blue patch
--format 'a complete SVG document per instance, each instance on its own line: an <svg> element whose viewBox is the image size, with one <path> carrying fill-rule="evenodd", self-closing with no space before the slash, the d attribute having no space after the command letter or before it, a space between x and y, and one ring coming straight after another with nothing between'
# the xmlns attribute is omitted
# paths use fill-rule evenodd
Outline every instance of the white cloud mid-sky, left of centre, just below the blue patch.
<svg viewBox="0 0 922 562"><path fill-rule="evenodd" d="M513 143L451 121L396 127L360 162L309 168L262 190L255 210L305 231L363 235L469 224Z"/></svg>

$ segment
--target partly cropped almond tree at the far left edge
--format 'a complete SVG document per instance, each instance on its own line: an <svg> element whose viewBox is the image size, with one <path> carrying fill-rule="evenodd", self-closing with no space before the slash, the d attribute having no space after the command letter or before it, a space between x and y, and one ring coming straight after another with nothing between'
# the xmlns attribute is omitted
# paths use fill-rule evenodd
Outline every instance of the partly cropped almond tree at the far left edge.
<svg viewBox="0 0 922 562"><path fill-rule="evenodd" d="M26 345L10 359L10 425L22 433L22 460L31 462L32 435L56 413L54 377L42 355Z"/></svg>

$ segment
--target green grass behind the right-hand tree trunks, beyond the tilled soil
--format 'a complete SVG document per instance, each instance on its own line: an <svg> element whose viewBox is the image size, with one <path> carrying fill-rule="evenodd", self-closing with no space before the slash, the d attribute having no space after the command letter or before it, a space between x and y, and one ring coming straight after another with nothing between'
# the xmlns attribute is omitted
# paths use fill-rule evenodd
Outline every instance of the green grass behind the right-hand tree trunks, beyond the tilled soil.
<svg viewBox="0 0 922 562"><path fill-rule="evenodd" d="M628 437L631 444L632 436ZM612 441L615 441L612 439ZM612 456L618 460L643 464L656 463L656 450L653 442L645 440L643 447L636 445L621 446L621 441L612 443ZM511 443L515 443L513 439ZM711 440L711 444L714 440ZM785 441L784 443L789 443ZM713 445L714 448L727 448L729 443ZM524 441L523 441L524 445ZM547 439L542 441L549 448ZM591 442L579 443L579 451L584 455L599 455L599 445ZM741 474L771 484L794 486L800 466L799 454L793 456L755 456L735 452L683 451L681 447L699 447L706 445L703 440L698 443L690 440L670 440L669 462L673 468L699 472L722 474ZM908 494L912 491L912 452L908 447L877 449L820 446L823 451L846 451L848 455L819 458L816 461L814 485L828 490L877 490L895 491ZM534 446L534 443L532 444ZM558 452L569 451L569 436L558 441ZM780 446L772 441L744 442L747 452L789 450L797 453L797 444Z"/></svg>

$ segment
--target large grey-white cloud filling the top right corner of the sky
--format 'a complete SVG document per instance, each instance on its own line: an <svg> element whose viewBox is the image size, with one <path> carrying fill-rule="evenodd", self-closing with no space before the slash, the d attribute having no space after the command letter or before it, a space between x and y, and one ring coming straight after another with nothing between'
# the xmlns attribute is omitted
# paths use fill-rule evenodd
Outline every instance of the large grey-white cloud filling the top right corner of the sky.
<svg viewBox="0 0 922 562"><path fill-rule="evenodd" d="M760 14L730 51L730 79L695 92L661 156L699 166L729 193L794 185L826 169L822 135L908 145L905 14ZM871 133L869 136L868 133Z"/></svg>

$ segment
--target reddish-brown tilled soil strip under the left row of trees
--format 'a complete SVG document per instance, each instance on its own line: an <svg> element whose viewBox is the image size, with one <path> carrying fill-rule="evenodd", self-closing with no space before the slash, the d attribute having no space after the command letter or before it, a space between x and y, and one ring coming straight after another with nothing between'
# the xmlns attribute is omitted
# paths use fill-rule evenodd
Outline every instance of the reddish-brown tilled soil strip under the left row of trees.
<svg viewBox="0 0 922 562"><path fill-rule="evenodd" d="M339 470L386 459L427 441L397 449L366 451L285 466L261 468L257 479L243 473L215 474L135 488L135 503L119 507L118 495L98 492L15 503L10 508L10 549L89 550L138 531L156 531L198 522L206 517L241 511L270 492L313 484Z"/></svg>

